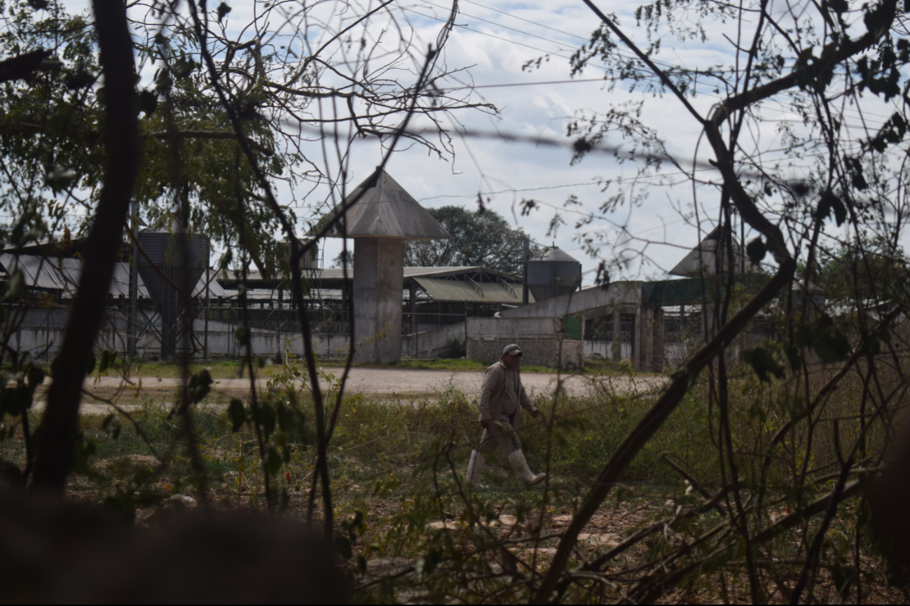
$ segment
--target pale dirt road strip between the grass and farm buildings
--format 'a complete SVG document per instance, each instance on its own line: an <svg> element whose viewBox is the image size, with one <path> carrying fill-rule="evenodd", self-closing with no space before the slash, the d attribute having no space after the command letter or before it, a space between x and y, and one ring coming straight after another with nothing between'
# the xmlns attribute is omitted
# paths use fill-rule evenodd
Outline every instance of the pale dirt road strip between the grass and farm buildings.
<svg viewBox="0 0 910 606"><path fill-rule="evenodd" d="M329 372L340 374L340 369L327 369ZM566 392L570 395L583 395L595 391L605 392L636 392L650 391L666 381L660 375L562 375ZM131 405L136 394L136 385L141 380L142 388L138 392L141 397L151 397L154 400L168 400L173 398L179 379L162 378L155 376L133 377L132 388L117 394L122 380L118 376L90 377L86 379L85 388L88 392L95 393L102 398L116 397L116 402L121 405ZM258 380L258 386L266 388L267 378ZM546 373L526 373L521 375L521 382L525 391L533 398L541 393L551 393L556 386L557 376ZM321 382L326 387L326 382ZM353 368L350 371L345 391L379 395L389 399L407 398L408 396L426 396L434 393L445 392L453 389L467 394L480 394L483 383L483 373L480 372L450 372L426 371L399 368ZM243 398L249 391L248 379L217 379L213 385L213 395L209 396L212 403L226 403L230 398ZM43 394L39 395L35 408L44 407ZM109 406L101 402L92 402L90 397L84 399L82 412L90 414L103 414L109 412Z"/></svg>

